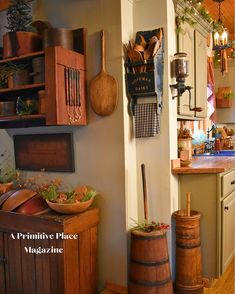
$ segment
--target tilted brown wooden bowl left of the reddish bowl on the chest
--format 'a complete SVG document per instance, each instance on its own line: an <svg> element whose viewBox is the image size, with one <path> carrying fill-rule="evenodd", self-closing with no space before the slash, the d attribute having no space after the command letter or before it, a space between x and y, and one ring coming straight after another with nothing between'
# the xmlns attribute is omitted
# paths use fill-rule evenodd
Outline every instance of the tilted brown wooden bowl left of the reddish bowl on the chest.
<svg viewBox="0 0 235 294"><path fill-rule="evenodd" d="M34 192L29 189L22 189L14 192L2 205L2 210L4 211L12 211L16 207L20 206L22 203L26 202L33 196L35 196L37 192Z"/></svg>

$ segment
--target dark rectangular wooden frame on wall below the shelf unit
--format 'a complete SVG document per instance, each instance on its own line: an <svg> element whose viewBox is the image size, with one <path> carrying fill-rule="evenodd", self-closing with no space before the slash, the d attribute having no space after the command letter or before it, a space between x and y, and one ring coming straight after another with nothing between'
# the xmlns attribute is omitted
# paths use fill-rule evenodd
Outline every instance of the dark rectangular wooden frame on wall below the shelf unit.
<svg viewBox="0 0 235 294"><path fill-rule="evenodd" d="M72 133L15 135L13 139L17 169L75 171Z"/></svg>

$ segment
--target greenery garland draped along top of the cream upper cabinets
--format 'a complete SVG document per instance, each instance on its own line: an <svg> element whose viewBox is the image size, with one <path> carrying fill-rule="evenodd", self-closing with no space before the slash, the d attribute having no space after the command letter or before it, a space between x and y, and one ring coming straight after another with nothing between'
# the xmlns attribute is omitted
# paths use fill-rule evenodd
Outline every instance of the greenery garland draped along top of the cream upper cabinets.
<svg viewBox="0 0 235 294"><path fill-rule="evenodd" d="M183 15L176 17L177 33L182 31L181 25L184 22L194 26L196 22L193 20L192 16L196 14L200 15L200 17L208 22L208 24L212 24L213 31L223 30L223 25L214 20L205 7L203 7L202 4L204 0L183 0L183 2L187 4L187 6L184 8Z"/></svg>

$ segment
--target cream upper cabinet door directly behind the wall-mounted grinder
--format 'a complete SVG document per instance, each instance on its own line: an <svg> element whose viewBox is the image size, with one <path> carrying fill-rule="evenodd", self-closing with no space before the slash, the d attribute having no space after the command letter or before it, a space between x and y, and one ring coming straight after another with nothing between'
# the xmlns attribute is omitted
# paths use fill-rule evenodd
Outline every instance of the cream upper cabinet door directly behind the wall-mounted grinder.
<svg viewBox="0 0 235 294"><path fill-rule="evenodd" d="M193 87L191 91L191 107L194 107L194 28L187 23L182 26L182 32L178 36L178 50L185 52L189 60L189 76L186 78L186 86ZM193 117L194 111L189 110L189 93L184 92L178 101L178 114L180 116Z"/></svg>

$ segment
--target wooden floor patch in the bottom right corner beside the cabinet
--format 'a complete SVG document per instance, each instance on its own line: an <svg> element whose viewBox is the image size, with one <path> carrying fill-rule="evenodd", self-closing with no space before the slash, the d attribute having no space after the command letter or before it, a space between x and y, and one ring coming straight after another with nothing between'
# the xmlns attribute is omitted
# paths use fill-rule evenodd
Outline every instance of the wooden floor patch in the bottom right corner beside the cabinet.
<svg viewBox="0 0 235 294"><path fill-rule="evenodd" d="M235 293L235 258L219 280L215 280L212 287L204 288L204 294L234 294Z"/></svg>

